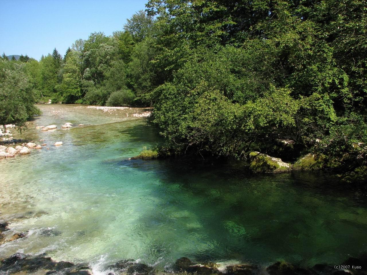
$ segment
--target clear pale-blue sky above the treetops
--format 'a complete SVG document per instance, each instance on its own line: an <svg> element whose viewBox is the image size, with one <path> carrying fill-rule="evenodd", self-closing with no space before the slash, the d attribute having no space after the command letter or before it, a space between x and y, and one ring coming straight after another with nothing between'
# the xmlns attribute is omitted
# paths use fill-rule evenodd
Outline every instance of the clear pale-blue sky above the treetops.
<svg viewBox="0 0 367 275"><path fill-rule="evenodd" d="M112 34L148 0L0 0L0 55L61 55L92 32Z"/></svg>

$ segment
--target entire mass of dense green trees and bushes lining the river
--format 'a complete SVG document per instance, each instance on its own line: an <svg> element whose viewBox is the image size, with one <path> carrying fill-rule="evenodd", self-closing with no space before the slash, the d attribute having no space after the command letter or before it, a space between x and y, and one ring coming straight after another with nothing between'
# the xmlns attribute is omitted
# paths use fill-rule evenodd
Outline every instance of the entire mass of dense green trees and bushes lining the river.
<svg viewBox="0 0 367 275"><path fill-rule="evenodd" d="M92 33L64 57L3 54L1 124L49 99L150 105L166 138L157 156L259 151L365 182L366 12L363 0L150 0L123 30Z"/></svg>

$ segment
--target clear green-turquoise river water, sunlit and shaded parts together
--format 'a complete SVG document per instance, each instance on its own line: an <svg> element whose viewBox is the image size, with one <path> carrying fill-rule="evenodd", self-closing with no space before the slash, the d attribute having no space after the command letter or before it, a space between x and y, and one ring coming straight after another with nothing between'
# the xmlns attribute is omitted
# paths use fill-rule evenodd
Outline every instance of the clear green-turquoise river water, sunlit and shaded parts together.
<svg viewBox="0 0 367 275"><path fill-rule="evenodd" d="M146 118L131 116L138 109L40 108L43 115L15 137L45 139L36 143L50 150L0 160L0 216L12 228L6 234L27 232L0 246L0 258L46 252L96 269L123 258L167 268L183 256L310 266L367 251L365 190L320 173L255 176L185 158L128 160L160 142ZM59 129L65 122L89 125ZM58 129L34 129L50 124ZM45 228L59 234L42 235Z"/></svg>

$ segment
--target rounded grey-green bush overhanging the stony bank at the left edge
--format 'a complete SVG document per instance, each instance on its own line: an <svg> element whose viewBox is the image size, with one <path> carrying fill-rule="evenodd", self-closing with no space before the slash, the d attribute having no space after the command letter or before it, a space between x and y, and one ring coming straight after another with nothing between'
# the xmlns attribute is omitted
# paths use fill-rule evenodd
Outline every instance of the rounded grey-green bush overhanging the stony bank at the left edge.
<svg viewBox="0 0 367 275"><path fill-rule="evenodd" d="M24 66L0 60L0 124L22 126L33 115L40 114L35 102Z"/></svg>

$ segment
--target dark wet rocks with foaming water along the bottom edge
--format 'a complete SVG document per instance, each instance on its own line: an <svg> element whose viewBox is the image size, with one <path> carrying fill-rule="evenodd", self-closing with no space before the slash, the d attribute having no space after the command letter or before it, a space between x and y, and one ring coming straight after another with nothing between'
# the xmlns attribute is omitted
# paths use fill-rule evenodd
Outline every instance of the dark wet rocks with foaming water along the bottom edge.
<svg viewBox="0 0 367 275"><path fill-rule="evenodd" d="M85 263L70 263L54 261L46 254L30 256L16 253L1 260L1 274L39 274L39 275L153 275L153 274L228 274L228 275L365 275L367 258L349 258L342 264L317 264L311 268L299 267L284 261L278 261L268 266L237 264L221 267L219 264L206 262L194 263L189 258L179 258L174 264L166 266L165 270L157 270L153 266L132 259L119 260L116 263L99 267L94 270Z"/></svg>

